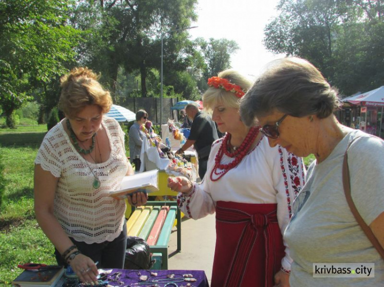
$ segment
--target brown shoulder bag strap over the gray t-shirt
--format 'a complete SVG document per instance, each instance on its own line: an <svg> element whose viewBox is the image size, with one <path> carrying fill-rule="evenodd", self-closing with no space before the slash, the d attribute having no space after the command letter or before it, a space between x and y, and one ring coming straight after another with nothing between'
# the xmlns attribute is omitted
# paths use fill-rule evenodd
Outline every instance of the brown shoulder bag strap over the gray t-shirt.
<svg viewBox="0 0 384 287"><path fill-rule="evenodd" d="M371 228L365 223L364 219L361 218L360 213L358 212L355 204L353 203L353 199L351 196L351 181L349 177L349 168L348 168L348 149L351 146L351 143L359 138L355 137L348 145L347 150L344 154L344 161L343 161L343 186L344 186L344 193L345 197L347 199L349 208L351 209L353 216L355 217L357 223L360 225L362 231L367 235L369 241L372 243L372 245L376 248L377 252L380 254L381 258L384 259L384 249L378 242L376 236L373 234Z"/></svg>

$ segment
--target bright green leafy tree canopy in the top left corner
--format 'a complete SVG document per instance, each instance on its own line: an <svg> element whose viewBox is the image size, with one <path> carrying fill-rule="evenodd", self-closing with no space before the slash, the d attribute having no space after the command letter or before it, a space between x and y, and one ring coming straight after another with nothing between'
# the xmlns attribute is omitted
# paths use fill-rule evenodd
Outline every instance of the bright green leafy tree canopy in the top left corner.
<svg viewBox="0 0 384 287"><path fill-rule="evenodd" d="M67 25L73 1L3 0L0 2L0 104L7 116L67 71L80 32Z"/></svg>

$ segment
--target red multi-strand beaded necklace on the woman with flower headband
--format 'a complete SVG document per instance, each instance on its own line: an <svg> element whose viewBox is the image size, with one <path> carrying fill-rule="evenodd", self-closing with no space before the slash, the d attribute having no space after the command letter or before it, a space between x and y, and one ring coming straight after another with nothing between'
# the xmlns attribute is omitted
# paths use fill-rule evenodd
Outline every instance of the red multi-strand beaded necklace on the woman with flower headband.
<svg viewBox="0 0 384 287"><path fill-rule="evenodd" d="M250 147L252 146L254 139L259 134L259 129L260 129L260 127L250 128L247 136L245 137L245 139L241 143L241 146L237 150L233 151L232 153L228 151L228 147L230 147L231 134L227 133L224 136L223 141L221 143L221 146L219 148L219 151L215 157L215 166L210 173L211 181L218 181L229 170L236 168L236 166L243 160L243 158L248 153ZM221 162L221 159L223 158L224 154L229 156L229 157L232 157L234 159L228 164L221 164L220 162ZM222 171L218 172L219 169ZM214 178L214 175L216 175L217 178Z"/></svg>

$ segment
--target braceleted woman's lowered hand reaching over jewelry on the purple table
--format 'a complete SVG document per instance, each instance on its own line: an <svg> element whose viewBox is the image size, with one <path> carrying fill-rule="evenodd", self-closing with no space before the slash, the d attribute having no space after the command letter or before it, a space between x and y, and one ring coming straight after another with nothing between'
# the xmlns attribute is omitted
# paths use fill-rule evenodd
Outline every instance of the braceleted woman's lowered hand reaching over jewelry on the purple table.
<svg viewBox="0 0 384 287"><path fill-rule="evenodd" d="M70 265L81 282L87 284L96 284L98 282L97 275L99 275L99 272L97 271L95 262L93 262L90 257L84 254L78 254L71 260Z"/></svg>

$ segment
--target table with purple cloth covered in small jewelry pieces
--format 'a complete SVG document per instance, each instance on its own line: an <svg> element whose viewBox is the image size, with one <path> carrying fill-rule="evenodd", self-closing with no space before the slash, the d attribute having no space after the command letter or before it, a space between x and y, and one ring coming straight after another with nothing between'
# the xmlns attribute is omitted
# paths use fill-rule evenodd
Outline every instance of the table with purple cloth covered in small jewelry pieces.
<svg viewBox="0 0 384 287"><path fill-rule="evenodd" d="M101 272L101 270L99 270ZM157 276L151 274L157 273ZM174 278L168 278L167 275L174 275ZM190 274L196 281L186 281ZM148 276L146 281L140 281L140 276ZM194 286L194 287L209 287L205 272L201 270L124 270L113 269L108 274L108 284L111 286ZM189 285L187 285L189 283ZM156 285L157 284L157 285Z"/></svg>

